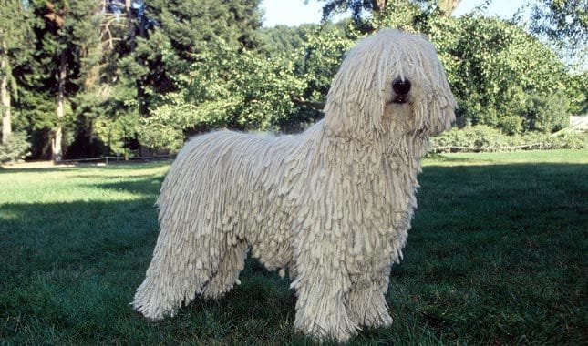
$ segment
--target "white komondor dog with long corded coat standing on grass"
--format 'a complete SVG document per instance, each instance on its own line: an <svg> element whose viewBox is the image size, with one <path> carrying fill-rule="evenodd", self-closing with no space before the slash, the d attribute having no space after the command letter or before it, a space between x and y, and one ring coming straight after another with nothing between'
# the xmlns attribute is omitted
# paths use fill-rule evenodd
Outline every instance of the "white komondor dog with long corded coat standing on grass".
<svg viewBox="0 0 588 346"><path fill-rule="evenodd" d="M346 55L325 118L298 136L191 139L163 182L160 236L133 306L159 320L239 284L248 249L288 270L294 328L346 341L392 322L384 294L417 207L419 159L456 102L434 47L380 31Z"/></svg>

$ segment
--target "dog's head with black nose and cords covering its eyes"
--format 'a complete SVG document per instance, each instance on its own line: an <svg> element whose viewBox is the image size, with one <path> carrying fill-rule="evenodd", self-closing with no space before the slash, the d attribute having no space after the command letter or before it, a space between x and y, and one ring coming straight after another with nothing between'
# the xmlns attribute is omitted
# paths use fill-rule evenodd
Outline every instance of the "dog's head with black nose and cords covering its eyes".
<svg viewBox="0 0 588 346"><path fill-rule="evenodd" d="M451 127L456 101L435 48L423 36L387 29L347 52L325 105L341 137L428 137Z"/></svg>

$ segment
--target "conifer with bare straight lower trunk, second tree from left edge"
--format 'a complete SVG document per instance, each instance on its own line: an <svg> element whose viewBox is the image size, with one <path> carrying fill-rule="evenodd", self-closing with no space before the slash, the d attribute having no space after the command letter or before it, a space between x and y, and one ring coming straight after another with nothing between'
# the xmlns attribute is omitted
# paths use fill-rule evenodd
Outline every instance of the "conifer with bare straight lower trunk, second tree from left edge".
<svg viewBox="0 0 588 346"><path fill-rule="evenodd" d="M50 127L51 158L63 158L63 145L76 137L77 117L72 100L88 85L99 60L98 0L31 2L39 19L35 31L39 69L36 92L55 97L55 116L45 115ZM64 137L64 133L67 137Z"/></svg>

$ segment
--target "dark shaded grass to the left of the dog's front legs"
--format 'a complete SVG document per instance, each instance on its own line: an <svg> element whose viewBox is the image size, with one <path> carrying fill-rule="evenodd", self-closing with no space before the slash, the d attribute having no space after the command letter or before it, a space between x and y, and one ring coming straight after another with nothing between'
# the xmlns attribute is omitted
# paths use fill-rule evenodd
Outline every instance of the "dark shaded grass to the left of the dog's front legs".
<svg viewBox="0 0 588 346"><path fill-rule="evenodd" d="M132 310L158 235L152 205L152 198L3 205L0 337L17 344L296 338L294 292L256 260L226 298L195 300L175 319L154 323Z"/></svg>

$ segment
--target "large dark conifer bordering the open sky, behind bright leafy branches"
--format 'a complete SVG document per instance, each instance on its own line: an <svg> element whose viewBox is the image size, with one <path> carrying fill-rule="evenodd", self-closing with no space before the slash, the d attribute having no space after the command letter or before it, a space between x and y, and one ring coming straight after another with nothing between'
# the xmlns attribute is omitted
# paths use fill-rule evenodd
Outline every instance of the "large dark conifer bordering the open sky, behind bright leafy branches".
<svg viewBox="0 0 588 346"><path fill-rule="evenodd" d="M259 0L154 0L144 4L150 24L145 36L137 37L133 58L125 64L139 81L142 124L157 123L166 105L183 99L182 89L191 78L191 69L202 55L218 48L216 42L222 42L222 49L229 49L232 57L261 45L258 6ZM211 42L215 43L210 46ZM152 116L155 118L150 120ZM157 142L150 139L149 129L141 129L139 141Z"/></svg>

